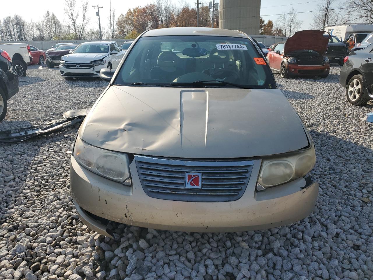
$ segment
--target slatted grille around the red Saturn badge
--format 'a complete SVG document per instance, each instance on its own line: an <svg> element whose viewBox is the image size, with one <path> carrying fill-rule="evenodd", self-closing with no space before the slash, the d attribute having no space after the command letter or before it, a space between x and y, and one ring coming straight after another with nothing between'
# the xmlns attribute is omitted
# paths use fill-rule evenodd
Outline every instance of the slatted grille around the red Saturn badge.
<svg viewBox="0 0 373 280"><path fill-rule="evenodd" d="M145 193L154 198L223 202L239 199L245 192L254 161L184 161L135 156ZM186 173L200 173L201 188L186 188Z"/></svg>

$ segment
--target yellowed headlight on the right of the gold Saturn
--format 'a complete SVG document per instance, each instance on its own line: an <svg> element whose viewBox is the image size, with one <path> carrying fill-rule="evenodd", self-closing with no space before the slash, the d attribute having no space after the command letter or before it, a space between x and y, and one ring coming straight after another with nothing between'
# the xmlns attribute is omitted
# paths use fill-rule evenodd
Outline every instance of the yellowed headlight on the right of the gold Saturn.
<svg viewBox="0 0 373 280"><path fill-rule="evenodd" d="M304 177L316 162L315 148L291 153L288 156L263 159L258 184L265 189Z"/></svg>

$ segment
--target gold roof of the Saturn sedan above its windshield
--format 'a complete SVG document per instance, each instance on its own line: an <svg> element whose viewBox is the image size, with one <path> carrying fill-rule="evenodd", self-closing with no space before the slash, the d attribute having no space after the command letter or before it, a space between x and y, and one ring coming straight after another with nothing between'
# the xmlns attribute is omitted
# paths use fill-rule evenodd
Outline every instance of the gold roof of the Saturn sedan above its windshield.
<svg viewBox="0 0 373 280"><path fill-rule="evenodd" d="M222 28L209 27L171 27L151 29L142 34L142 37L151 36L225 36L247 38L247 35L241 31L234 31Z"/></svg>

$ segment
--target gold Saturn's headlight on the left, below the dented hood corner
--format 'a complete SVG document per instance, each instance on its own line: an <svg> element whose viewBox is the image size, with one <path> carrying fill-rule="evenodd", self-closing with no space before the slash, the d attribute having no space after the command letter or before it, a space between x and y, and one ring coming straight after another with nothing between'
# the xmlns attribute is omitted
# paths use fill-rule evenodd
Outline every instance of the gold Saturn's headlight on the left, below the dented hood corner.
<svg viewBox="0 0 373 280"><path fill-rule="evenodd" d="M90 171L110 180L131 186L128 156L100 149L83 142L76 137L73 156L79 164Z"/></svg>

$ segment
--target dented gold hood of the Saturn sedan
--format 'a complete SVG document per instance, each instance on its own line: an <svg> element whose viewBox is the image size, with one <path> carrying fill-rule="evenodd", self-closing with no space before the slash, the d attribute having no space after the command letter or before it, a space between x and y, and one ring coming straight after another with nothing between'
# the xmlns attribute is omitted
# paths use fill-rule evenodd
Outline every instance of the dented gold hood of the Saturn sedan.
<svg viewBox="0 0 373 280"><path fill-rule="evenodd" d="M280 90L112 86L79 129L103 149L177 158L242 158L308 146Z"/></svg>

